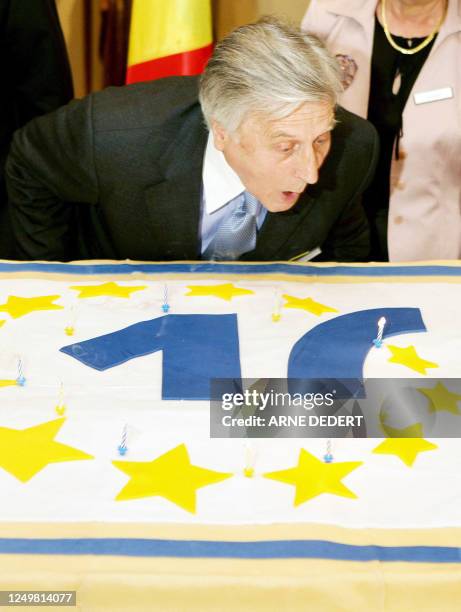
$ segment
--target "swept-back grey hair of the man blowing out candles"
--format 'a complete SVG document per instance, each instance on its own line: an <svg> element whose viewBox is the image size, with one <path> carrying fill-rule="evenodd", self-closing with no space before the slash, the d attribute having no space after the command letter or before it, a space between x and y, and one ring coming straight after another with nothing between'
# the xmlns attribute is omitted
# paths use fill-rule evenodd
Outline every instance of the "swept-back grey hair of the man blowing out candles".
<svg viewBox="0 0 461 612"><path fill-rule="evenodd" d="M317 37L263 17L216 45L199 99L208 127L215 120L235 131L248 112L282 118L305 102L334 106L341 91L336 58Z"/></svg>

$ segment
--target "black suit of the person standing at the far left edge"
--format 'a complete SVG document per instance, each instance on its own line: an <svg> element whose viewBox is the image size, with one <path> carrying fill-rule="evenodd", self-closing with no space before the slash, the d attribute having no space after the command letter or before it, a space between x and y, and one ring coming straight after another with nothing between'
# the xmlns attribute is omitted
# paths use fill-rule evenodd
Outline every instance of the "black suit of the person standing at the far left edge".
<svg viewBox="0 0 461 612"><path fill-rule="evenodd" d="M3 170L13 132L73 97L54 0L0 0L0 258L15 256Z"/></svg>

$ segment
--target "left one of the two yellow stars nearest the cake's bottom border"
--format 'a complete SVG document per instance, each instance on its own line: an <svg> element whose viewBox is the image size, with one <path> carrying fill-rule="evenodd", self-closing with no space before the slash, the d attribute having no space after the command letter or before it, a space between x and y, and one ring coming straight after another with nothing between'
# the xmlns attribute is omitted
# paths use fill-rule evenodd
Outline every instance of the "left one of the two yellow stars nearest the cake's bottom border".
<svg viewBox="0 0 461 612"><path fill-rule="evenodd" d="M112 461L130 480L115 498L118 501L141 497L164 497L195 514L197 489L233 476L192 465L185 444L153 461Z"/></svg>

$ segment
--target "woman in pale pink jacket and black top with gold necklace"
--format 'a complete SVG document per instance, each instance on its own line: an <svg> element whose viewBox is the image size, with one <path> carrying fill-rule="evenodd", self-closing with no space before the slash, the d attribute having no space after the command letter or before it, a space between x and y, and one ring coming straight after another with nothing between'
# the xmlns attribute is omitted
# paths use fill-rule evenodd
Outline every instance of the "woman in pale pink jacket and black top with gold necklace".
<svg viewBox="0 0 461 612"><path fill-rule="evenodd" d="M461 259L461 0L311 0L303 28L378 129L372 259Z"/></svg>

